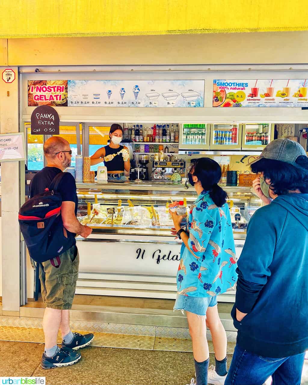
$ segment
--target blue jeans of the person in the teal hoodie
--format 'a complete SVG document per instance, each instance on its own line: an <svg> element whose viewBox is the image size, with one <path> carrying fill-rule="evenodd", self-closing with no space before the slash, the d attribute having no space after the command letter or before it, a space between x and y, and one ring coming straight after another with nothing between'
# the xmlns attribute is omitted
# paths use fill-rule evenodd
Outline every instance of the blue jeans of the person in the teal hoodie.
<svg viewBox="0 0 308 385"><path fill-rule="evenodd" d="M272 376L272 385L300 385L305 353L269 358L235 346L224 385L262 385Z"/></svg>

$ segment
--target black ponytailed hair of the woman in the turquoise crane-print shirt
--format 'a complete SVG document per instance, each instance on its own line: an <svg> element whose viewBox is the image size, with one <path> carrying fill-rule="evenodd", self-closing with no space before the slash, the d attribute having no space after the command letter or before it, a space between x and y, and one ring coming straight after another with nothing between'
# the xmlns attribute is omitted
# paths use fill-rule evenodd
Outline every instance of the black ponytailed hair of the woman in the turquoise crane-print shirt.
<svg viewBox="0 0 308 385"><path fill-rule="evenodd" d="M217 162L211 158L199 158L192 160L193 174L198 177L205 191L209 191L209 196L218 207L226 203L228 195L218 182L221 179L221 168Z"/></svg>

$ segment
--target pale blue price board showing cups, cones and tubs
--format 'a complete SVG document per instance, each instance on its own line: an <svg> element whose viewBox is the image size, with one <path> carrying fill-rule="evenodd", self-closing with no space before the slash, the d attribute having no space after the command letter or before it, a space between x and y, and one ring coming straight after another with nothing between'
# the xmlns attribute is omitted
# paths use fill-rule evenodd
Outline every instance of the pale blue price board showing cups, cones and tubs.
<svg viewBox="0 0 308 385"><path fill-rule="evenodd" d="M69 107L204 107L204 80L69 80Z"/></svg>

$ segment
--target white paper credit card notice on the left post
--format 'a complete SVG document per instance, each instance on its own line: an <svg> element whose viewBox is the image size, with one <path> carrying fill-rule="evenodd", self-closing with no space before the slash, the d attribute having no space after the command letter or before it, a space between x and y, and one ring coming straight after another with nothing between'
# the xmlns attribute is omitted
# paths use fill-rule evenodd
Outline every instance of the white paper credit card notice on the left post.
<svg viewBox="0 0 308 385"><path fill-rule="evenodd" d="M25 137L22 132L0 134L0 162L25 160Z"/></svg>

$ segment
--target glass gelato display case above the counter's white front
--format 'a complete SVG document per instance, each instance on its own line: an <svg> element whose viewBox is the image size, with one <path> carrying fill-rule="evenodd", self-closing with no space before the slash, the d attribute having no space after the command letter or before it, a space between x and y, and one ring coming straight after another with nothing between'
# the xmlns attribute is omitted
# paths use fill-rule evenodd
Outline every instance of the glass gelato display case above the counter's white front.
<svg viewBox="0 0 308 385"><path fill-rule="evenodd" d="M222 187L228 193L234 238L244 239L249 219L262 206L249 187ZM169 205L184 201L189 207L197 198L183 184L124 182L77 184L77 217L98 233L172 236Z"/></svg>

